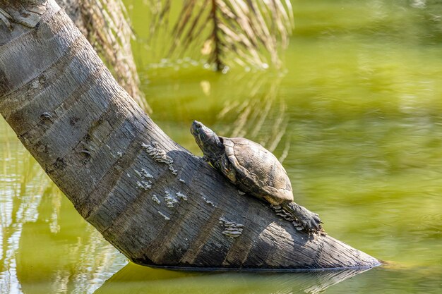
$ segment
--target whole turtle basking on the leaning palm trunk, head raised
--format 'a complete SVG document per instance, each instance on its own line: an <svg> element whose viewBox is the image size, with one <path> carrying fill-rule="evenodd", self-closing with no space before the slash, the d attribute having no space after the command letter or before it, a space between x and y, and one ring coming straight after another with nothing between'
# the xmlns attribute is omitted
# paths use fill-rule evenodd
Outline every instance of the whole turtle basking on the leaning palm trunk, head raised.
<svg viewBox="0 0 442 294"><path fill-rule="evenodd" d="M282 209L308 233L322 231L318 214L293 202L290 179L272 152L244 137L218 136L199 121L193 121L191 133L203 151L203 159L239 190Z"/></svg>

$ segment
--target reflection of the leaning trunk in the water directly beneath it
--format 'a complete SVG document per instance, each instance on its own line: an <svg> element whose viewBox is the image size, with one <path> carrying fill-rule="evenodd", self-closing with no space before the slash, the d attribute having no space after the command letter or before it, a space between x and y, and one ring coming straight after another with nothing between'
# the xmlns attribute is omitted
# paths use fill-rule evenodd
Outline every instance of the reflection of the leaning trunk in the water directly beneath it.
<svg viewBox="0 0 442 294"><path fill-rule="evenodd" d="M150 269L129 263L109 278L101 293L322 293L367 269L286 274L195 273Z"/></svg>

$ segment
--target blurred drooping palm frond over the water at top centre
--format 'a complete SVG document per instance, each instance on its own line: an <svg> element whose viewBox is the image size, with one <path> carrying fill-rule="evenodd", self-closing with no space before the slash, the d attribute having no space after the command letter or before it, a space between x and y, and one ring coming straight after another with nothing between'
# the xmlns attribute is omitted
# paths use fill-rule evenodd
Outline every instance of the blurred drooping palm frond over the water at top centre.
<svg viewBox="0 0 442 294"><path fill-rule="evenodd" d="M169 30L167 57L198 52L215 70L230 61L267 68L280 67L279 49L287 47L294 24L289 0L184 0L172 20L171 0L150 0L150 35ZM172 23L172 27L169 27ZM166 57L166 56L165 56Z"/></svg>

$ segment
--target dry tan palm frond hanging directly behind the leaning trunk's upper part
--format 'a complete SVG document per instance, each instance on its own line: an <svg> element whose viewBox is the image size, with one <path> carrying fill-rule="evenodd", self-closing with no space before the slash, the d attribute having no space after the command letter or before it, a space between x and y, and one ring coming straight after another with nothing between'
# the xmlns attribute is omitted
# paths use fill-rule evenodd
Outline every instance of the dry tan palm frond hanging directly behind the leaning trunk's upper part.
<svg viewBox="0 0 442 294"><path fill-rule="evenodd" d="M122 0L57 0L88 38L95 51L112 71L114 78L148 113L152 112L140 90L133 60L131 28Z"/></svg>

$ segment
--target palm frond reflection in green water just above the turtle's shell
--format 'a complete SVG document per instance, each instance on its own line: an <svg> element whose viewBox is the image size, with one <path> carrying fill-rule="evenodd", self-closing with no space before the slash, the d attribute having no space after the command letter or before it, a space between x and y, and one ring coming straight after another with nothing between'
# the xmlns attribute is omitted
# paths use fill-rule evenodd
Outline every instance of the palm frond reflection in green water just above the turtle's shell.
<svg viewBox="0 0 442 294"><path fill-rule="evenodd" d="M289 122L287 104L278 98L282 78L282 73L270 80L265 72L234 75L229 82L243 85L236 93L237 97L243 98L241 103L235 98L223 99L225 105L217 114L215 128L225 137L247 137L273 152L285 138ZM289 140L285 142L281 161L289 150Z"/></svg>

